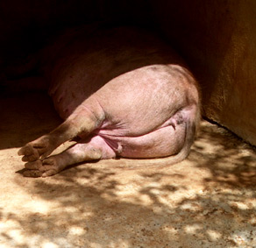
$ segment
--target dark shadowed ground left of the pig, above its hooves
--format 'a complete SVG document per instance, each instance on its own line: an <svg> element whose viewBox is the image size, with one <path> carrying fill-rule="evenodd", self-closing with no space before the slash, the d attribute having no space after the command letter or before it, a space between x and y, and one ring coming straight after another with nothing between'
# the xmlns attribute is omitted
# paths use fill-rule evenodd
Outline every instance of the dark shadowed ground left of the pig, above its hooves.
<svg viewBox="0 0 256 248"><path fill-rule="evenodd" d="M1 97L0 113L0 150L25 145L61 123L50 97L40 91Z"/></svg>

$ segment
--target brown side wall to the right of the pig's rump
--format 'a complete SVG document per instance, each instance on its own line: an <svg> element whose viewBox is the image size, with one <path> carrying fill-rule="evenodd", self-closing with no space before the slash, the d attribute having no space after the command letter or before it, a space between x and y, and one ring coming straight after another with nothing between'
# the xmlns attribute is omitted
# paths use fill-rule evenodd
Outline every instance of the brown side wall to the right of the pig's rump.
<svg viewBox="0 0 256 248"><path fill-rule="evenodd" d="M256 1L154 1L200 81L206 117L256 145Z"/></svg>

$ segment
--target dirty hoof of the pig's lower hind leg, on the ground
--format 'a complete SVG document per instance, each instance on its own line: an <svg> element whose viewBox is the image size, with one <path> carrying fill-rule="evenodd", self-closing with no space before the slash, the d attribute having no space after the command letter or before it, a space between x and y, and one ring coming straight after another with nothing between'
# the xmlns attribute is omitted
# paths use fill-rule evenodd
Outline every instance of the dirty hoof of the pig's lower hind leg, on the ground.
<svg viewBox="0 0 256 248"><path fill-rule="evenodd" d="M26 177L46 177L58 174L61 171L54 158L44 159L43 161L36 160L33 162L27 162L25 163L25 168L27 170L23 175Z"/></svg>

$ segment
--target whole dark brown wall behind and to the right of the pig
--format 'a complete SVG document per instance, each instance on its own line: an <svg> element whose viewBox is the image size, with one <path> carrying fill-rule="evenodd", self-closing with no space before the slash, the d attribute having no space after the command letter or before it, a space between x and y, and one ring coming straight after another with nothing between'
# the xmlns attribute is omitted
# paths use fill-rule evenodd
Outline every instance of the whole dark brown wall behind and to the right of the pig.
<svg viewBox="0 0 256 248"><path fill-rule="evenodd" d="M60 28L103 18L158 27L196 74L204 115L256 145L254 0L4 0L0 67L32 53Z"/></svg>

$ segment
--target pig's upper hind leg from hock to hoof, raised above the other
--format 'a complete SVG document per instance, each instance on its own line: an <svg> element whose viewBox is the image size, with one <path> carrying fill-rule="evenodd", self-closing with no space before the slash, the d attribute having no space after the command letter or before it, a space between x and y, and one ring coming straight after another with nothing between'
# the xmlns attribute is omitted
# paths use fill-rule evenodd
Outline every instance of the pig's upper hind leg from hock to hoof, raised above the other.
<svg viewBox="0 0 256 248"><path fill-rule="evenodd" d="M25 162L45 159L55 148L82 134L86 137L101 124L101 119L88 108L79 106L68 119L50 133L29 142L18 151Z"/></svg>

